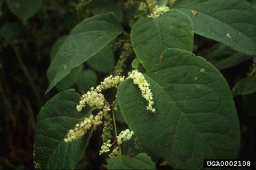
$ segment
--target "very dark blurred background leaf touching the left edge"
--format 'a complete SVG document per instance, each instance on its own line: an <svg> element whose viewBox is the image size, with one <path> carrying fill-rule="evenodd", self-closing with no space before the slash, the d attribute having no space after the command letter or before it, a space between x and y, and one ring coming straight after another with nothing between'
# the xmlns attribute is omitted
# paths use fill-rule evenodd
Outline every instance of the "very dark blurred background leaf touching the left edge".
<svg viewBox="0 0 256 170"><path fill-rule="evenodd" d="M0 28L0 36L5 39L13 39L20 37L25 31L20 22L7 22Z"/></svg>

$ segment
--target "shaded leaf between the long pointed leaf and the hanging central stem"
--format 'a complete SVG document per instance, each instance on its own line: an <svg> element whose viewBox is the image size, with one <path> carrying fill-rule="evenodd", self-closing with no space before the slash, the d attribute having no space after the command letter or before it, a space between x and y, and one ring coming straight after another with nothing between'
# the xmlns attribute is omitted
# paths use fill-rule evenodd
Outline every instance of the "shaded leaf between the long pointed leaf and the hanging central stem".
<svg viewBox="0 0 256 170"><path fill-rule="evenodd" d="M111 72L115 66L115 56L110 46L105 46L105 48L87 60L87 64L99 72Z"/></svg>

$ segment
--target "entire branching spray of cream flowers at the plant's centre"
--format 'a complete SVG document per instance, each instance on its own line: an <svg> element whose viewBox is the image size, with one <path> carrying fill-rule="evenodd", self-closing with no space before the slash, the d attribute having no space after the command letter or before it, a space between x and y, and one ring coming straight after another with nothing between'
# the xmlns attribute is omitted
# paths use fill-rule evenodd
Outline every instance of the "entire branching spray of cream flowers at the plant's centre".
<svg viewBox="0 0 256 170"><path fill-rule="evenodd" d="M145 80L145 77L141 72L137 70L133 70L129 72L128 78L133 79L133 83L139 86L141 90L141 94L145 100L148 102L147 110L155 113L155 108L153 108L153 94L149 88L149 83ZM109 103L105 100L103 94L101 92L103 90L107 90L108 88L117 87L121 82L125 80L124 76L108 76L97 86L96 88L91 88L89 92L83 94L81 97L81 101L77 105L77 111L81 111L85 106L90 106L93 110L97 109L99 112L93 116L89 116L89 118L83 118L83 120L75 125L74 129L70 129L67 133L67 137L64 139L65 142L71 142L76 139L80 139L89 129L95 130L97 126L103 124L103 145L101 147L100 155L102 153L108 152L109 147L111 147L111 121L112 118L109 115L110 106ZM126 129L125 131L121 131L121 133L117 136L117 145L121 145L123 141L131 139L133 135L133 131ZM113 155L117 155L119 153L118 149L115 147L112 153L109 155L110 157Z"/></svg>

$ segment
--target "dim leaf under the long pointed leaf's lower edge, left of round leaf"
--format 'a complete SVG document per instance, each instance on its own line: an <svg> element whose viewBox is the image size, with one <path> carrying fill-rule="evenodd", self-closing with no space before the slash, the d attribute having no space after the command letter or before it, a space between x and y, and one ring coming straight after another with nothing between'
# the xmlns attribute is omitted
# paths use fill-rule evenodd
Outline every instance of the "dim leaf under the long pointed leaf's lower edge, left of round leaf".
<svg viewBox="0 0 256 170"><path fill-rule="evenodd" d="M83 64L73 68L73 70L56 85L57 90L62 92L68 88L71 88L77 82L82 69Z"/></svg>

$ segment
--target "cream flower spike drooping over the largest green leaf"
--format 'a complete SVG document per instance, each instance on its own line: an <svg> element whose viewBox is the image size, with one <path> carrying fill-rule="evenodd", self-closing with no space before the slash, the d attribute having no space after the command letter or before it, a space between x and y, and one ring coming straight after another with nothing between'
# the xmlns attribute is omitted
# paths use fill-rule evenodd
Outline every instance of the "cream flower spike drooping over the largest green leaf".
<svg viewBox="0 0 256 170"><path fill-rule="evenodd" d="M129 78L133 79L133 83L139 86L143 98L147 100L149 104L147 106L147 110L155 113L155 108L153 108L153 94L151 93L149 83L147 82L143 74L141 72L138 72L137 70L133 70L132 72L129 72Z"/></svg>

